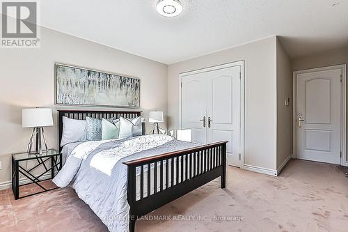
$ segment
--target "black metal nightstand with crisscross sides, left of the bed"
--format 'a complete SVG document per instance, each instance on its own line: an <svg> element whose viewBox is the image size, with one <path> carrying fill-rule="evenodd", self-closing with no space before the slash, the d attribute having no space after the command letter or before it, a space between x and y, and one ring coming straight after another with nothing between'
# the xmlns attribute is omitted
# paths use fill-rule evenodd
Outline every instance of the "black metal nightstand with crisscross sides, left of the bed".
<svg viewBox="0 0 348 232"><path fill-rule="evenodd" d="M31 169L24 168L24 165L29 160L35 160L37 164ZM49 165L49 162L51 164ZM54 178L54 171L61 170L62 155L55 149L49 149L42 154L15 153L12 154L12 190L15 199L21 199L26 196L32 196L49 190L54 190L57 187L47 188L41 184L42 181ZM41 169L38 169L41 167ZM35 172L34 172L35 171ZM19 175L26 177L25 183L19 183ZM47 178L48 176L48 178ZM40 192L19 196L19 187L29 184L35 184L40 187Z"/></svg>

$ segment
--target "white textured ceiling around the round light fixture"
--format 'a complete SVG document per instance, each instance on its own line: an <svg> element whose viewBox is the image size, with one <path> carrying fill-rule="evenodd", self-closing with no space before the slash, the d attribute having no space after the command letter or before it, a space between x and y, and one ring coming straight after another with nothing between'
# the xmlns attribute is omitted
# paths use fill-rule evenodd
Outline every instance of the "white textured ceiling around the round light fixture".
<svg viewBox="0 0 348 232"><path fill-rule="evenodd" d="M40 1L42 26L161 63L269 36L292 57L348 45L348 0L181 0L167 18L157 0Z"/></svg>

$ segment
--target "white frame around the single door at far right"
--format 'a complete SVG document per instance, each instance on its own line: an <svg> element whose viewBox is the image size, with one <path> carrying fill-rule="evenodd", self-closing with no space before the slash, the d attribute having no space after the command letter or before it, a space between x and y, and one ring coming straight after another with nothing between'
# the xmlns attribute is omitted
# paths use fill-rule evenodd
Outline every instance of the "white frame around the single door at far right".
<svg viewBox="0 0 348 232"><path fill-rule="evenodd" d="M346 153L346 135L347 135L347 127L346 127L346 108L347 108L347 82L346 82L346 64L342 65L332 65L322 68L310 68L306 70L298 70L293 72L293 93L292 93L292 100L293 100L293 109L292 109L292 158L297 158L297 75L303 74L303 73L309 73L309 72L320 72L320 71L326 71L326 70L336 70L340 69L342 72L342 82L341 82L341 131L340 131L340 150L341 150L341 157L340 157L340 164L343 166L348 166L348 159L347 159L347 153Z"/></svg>

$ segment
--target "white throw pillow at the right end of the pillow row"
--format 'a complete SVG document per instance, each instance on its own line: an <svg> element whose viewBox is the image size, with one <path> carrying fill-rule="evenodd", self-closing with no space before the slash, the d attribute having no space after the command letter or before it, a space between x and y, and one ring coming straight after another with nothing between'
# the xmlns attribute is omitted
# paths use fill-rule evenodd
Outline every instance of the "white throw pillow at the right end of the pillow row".
<svg viewBox="0 0 348 232"><path fill-rule="evenodd" d="M114 122L115 123L115 122ZM132 120L120 117L120 132L118 139L126 139L129 137L139 136L142 134L141 117Z"/></svg>

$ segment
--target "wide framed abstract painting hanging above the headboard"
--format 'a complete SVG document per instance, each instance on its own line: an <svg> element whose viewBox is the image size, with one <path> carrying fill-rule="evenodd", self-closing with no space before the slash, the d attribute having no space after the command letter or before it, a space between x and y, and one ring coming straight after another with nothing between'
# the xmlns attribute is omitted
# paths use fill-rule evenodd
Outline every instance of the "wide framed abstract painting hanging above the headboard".
<svg viewBox="0 0 348 232"><path fill-rule="evenodd" d="M55 64L56 105L140 107L140 79Z"/></svg>

